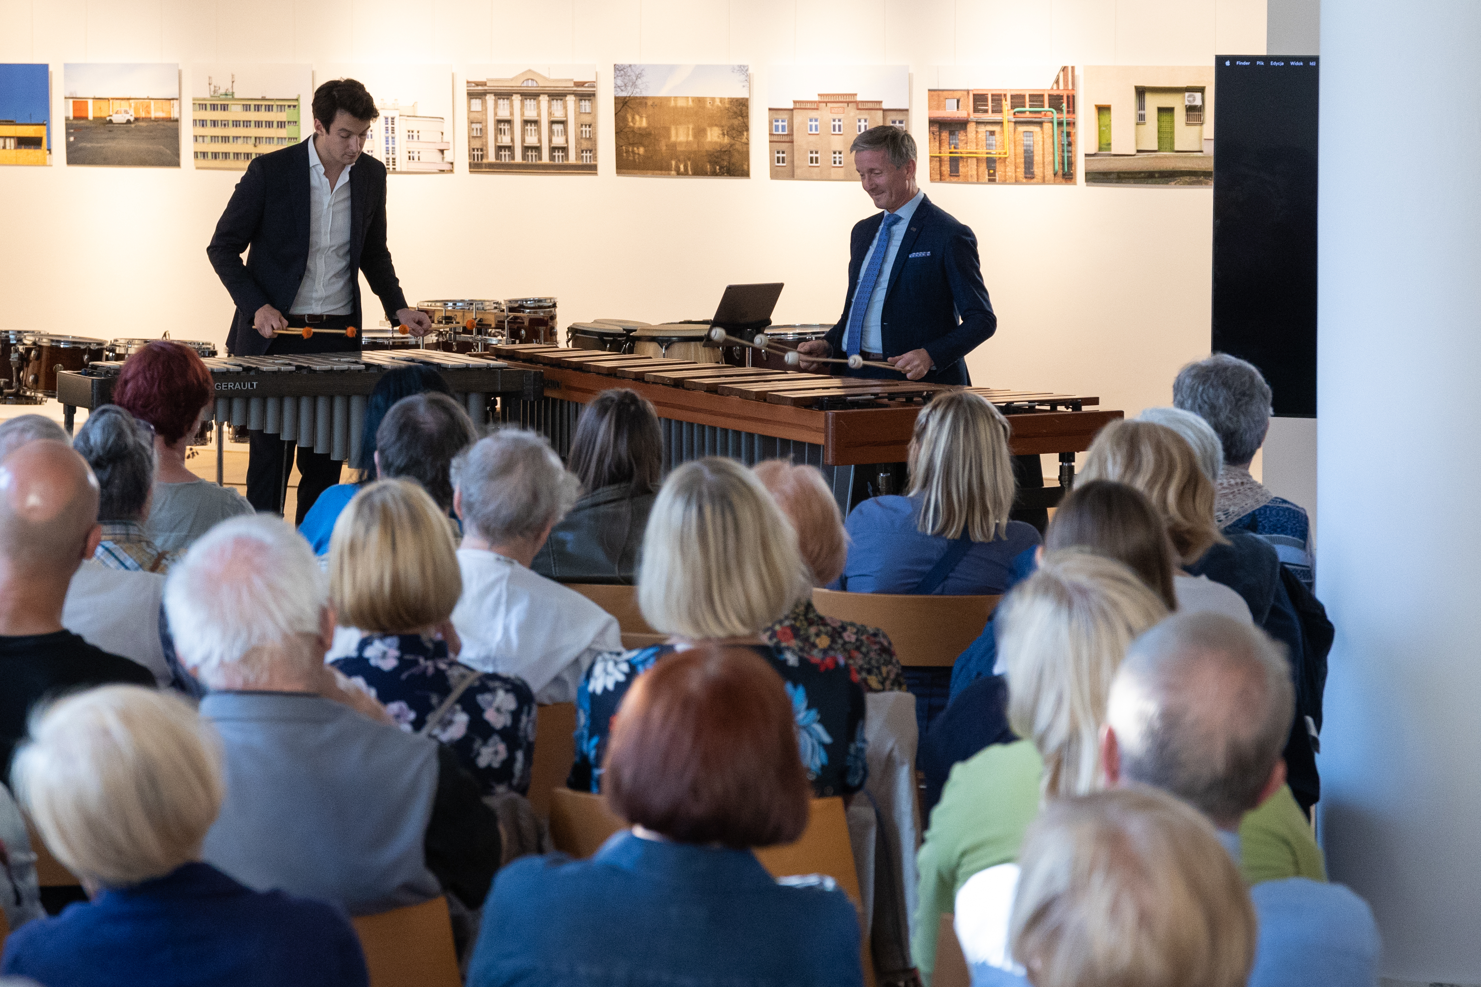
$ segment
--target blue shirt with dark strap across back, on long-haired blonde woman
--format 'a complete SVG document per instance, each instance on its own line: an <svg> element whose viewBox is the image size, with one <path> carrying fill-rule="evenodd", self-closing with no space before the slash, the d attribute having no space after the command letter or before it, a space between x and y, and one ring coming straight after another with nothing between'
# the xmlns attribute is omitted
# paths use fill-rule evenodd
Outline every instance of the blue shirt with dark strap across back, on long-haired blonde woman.
<svg viewBox="0 0 1481 987"><path fill-rule="evenodd" d="M850 593L914 593L951 543L917 528L921 497L874 497L849 515L849 561L838 587ZM1038 531L1009 521L1007 534L976 542L936 590L948 596L997 595L1034 571Z"/></svg>

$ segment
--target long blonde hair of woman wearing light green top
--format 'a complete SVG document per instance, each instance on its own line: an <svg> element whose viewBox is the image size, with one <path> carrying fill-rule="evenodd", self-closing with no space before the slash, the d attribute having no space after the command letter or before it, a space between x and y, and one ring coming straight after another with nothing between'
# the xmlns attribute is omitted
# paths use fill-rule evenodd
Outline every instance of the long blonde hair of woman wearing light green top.
<svg viewBox="0 0 1481 987"><path fill-rule="evenodd" d="M1049 552L998 610L1009 725L1044 761L1046 799L1103 787L1100 727L1126 650L1167 616L1130 568L1081 549Z"/></svg>

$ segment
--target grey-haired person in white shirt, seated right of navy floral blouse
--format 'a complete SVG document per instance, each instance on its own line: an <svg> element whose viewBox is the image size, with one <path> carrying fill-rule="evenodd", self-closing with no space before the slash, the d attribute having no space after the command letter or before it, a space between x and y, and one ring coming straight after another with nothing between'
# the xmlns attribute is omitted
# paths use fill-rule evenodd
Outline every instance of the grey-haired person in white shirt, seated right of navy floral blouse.
<svg viewBox="0 0 1481 987"><path fill-rule="evenodd" d="M616 619L530 570L579 481L535 432L501 429L453 460L453 505L464 522L458 658L524 679L541 703L569 703L603 653L622 650Z"/></svg>

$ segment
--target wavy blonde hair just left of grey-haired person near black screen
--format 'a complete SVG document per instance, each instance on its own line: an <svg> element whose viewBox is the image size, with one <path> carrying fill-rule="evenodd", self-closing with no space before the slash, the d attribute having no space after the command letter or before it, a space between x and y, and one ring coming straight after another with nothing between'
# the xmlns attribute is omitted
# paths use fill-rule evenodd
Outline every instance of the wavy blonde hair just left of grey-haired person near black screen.
<svg viewBox="0 0 1481 987"><path fill-rule="evenodd" d="M1183 565L1228 543L1213 521L1213 481L1188 439L1166 425L1111 422L1090 444L1080 476L1112 479L1146 494L1167 521L1167 537Z"/></svg>

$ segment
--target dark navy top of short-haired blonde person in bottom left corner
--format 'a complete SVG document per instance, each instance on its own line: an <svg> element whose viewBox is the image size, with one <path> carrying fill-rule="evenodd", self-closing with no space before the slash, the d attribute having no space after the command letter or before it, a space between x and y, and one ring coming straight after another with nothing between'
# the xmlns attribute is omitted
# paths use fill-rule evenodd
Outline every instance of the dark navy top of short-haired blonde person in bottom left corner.
<svg viewBox="0 0 1481 987"><path fill-rule="evenodd" d="M67 987L369 984L344 912L198 863L27 922L4 947L4 975Z"/></svg>

